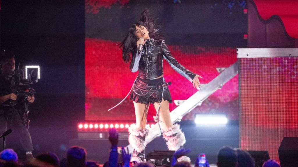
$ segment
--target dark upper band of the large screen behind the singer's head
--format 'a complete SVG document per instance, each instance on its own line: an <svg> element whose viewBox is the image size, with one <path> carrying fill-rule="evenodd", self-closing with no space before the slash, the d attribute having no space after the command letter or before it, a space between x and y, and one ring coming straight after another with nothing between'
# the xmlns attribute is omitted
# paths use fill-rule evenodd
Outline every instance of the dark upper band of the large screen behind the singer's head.
<svg viewBox="0 0 298 167"><path fill-rule="evenodd" d="M91 8L90 4L87 1L86 9ZM139 21L147 8L162 23L161 31L168 45L247 45L243 39L243 34L247 34L245 0L130 0L126 4L111 1L105 5L86 10L87 38L122 41L131 24Z"/></svg>

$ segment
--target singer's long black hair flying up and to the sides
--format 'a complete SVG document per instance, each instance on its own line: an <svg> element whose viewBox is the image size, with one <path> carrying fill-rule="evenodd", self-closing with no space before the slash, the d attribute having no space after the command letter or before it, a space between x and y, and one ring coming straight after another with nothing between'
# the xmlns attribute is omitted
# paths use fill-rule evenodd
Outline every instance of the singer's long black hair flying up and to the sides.
<svg viewBox="0 0 298 167"><path fill-rule="evenodd" d="M122 48L122 59L124 62L128 62L131 59L131 55L134 54L134 50L136 50L136 41L138 41L138 38L135 35L136 32L136 26L141 27L144 26L149 31L150 38L153 38L155 40L162 39L163 36L160 34L160 27L161 23L156 23L157 18L151 18L148 15L149 10L145 9L141 13L141 18L139 22L134 23L131 25L131 27L128 29L128 33L124 40L119 43L119 48Z"/></svg>

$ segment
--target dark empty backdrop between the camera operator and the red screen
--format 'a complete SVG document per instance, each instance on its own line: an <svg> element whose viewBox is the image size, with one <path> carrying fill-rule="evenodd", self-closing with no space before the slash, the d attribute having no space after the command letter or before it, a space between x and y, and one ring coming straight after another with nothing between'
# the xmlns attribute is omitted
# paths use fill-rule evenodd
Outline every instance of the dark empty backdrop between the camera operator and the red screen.
<svg viewBox="0 0 298 167"><path fill-rule="evenodd" d="M29 114L33 155L64 156L84 120L84 13L79 0L1 0L1 49L21 66L41 68Z"/></svg>

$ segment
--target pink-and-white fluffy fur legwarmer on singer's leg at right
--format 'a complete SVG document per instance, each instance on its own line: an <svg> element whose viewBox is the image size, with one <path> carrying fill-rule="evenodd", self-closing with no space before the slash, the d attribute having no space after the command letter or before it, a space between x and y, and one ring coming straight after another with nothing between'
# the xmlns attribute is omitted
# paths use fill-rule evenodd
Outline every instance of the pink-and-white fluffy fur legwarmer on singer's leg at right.
<svg viewBox="0 0 298 167"><path fill-rule="evenodd" d="M177 151L186 142L184 133L180 130L180 125L175 124L173 128L166 130L163 133L164 139L167 141L169 150Z"/></svg>

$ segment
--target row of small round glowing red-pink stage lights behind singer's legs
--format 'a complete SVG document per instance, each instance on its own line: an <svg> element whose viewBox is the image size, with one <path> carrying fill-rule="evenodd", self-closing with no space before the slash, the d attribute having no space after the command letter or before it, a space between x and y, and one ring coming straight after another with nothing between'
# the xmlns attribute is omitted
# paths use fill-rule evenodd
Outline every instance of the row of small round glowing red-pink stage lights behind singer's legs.
<svg viewBox="0 0 298 167"><path fill-rule="evenodd" d="M79 123L78 131L101 131L109 130L110 128L116 128L118 130L127 130L132 124L108 124L108 123ZM147 124L146 128L154 127L154 124Z"/></svg>

